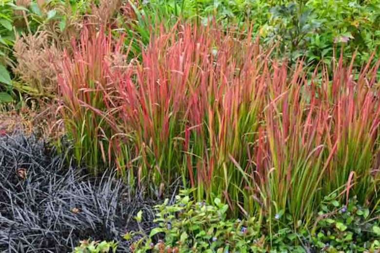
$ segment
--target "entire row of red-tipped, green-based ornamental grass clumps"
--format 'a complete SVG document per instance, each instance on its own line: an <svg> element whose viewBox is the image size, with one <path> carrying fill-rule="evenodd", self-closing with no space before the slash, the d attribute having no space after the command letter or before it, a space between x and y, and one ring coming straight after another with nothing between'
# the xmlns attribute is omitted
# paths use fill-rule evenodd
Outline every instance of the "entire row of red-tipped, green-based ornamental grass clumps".
<svg viewBox="0 0 380 253"><path fill-rule="evenodd" d="M78 161L159 196L181 177L197 200L280 226L310 224L332 192L379 204L379 63L356 72L341 56L309 75L215 22L154 29L141 61L125 61L133 41L89 29L66 56L60 111Z"/></svg>

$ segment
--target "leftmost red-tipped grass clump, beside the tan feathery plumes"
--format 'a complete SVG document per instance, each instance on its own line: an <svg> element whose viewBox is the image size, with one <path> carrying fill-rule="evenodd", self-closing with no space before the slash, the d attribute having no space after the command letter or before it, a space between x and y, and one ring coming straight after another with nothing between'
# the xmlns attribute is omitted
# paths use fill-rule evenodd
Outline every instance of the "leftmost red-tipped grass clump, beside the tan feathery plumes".
<svg viewBox="0 0 380 253"><path fill-rule="evenodd" d="M122 40L120 40L121 42ZM110 57L120 53L104 31L84 27L79 41L72 41L73 53L65 52L58 75L62 106L59 111L78 162L85 162L96 174L99 167L111 160L109 139L116 126L107 114L114 108Z"/></svg>

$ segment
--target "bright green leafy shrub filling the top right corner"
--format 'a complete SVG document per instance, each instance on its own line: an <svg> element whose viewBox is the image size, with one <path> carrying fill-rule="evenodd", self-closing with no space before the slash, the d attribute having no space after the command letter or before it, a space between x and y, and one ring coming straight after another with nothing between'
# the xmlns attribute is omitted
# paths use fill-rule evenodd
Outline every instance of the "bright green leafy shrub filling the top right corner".
<svg viewBox="0 0 380 253"><path fill-rule="evenodd" d="M327 62L333 57L333 48L341 45L346 60L358 50L356 64L361 65L380 45L379 1L309 0L306 6L322 23L319 33L310 37L306 50L308 61L325 59Z"/></svg>

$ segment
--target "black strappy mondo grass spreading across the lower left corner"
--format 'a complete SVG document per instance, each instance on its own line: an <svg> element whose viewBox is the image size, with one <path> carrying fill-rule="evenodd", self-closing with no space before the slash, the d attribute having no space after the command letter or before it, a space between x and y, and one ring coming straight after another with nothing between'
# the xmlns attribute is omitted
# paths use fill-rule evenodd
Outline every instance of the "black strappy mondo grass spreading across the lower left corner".
<svg viewBox="0 0 380 253"><path fill-rule="evenodd" d="M156 201L132 195L113 173L88 176L33 135L0 136L0 252L70 252L79 240L120 241L153 226Z"/></svg>

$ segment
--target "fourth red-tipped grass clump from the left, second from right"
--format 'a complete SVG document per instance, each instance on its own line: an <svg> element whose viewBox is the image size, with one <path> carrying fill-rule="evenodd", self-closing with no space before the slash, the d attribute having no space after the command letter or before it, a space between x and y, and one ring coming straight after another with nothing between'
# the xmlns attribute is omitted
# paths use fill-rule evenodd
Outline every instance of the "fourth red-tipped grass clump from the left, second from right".
<svg viewBox="0 0 380 253"><path fill-rule="evenodd" d="M286 210L297 222L314 210L319 195L328 113L308 86L302 63L291 74L286 63L274 64L267 79L266 136L258 142L256 169L266 210Z"/></svg>

